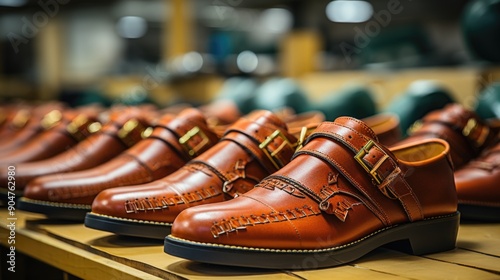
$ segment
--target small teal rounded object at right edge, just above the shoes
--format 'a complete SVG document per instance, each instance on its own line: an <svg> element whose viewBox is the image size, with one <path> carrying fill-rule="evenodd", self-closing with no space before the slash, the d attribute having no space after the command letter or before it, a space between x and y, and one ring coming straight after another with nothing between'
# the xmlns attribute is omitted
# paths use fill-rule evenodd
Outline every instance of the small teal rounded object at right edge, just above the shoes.
<svg viewBox="0 0 500 280"><path fill-rule="evenodd" d="M500 83L489 85L479 94L474 110L483 119L500 118Z"/></svg>

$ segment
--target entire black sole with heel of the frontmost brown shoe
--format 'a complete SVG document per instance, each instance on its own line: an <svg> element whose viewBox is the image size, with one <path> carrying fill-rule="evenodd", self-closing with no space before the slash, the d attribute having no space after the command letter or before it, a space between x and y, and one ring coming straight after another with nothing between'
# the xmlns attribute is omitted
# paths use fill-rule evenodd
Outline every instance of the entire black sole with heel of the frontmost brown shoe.
<svg viewBox="0 0 500 280"><path fill-rule="evenodd" d="M390 244L414 255L452 250L456 246L460 214L393 226L352 243L316 250L250 248L199 243L172 235L165 238L167 254L193 261L242 267L307 270L352 262Z"/></svg>

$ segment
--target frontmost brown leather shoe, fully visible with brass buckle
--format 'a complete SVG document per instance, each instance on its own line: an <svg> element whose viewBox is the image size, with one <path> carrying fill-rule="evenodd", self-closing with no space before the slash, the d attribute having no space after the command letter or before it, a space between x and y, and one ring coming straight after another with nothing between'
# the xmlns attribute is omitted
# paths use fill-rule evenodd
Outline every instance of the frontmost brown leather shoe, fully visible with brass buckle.
<svg viewBox="0 0 500 280"><path fill-rule="evenodd" d="M414 254L453 249L458 226L446 141L388 150L363 122L341 117L253 190L183 211L164 248L207 263L312 269L393 242Z"/></svg>

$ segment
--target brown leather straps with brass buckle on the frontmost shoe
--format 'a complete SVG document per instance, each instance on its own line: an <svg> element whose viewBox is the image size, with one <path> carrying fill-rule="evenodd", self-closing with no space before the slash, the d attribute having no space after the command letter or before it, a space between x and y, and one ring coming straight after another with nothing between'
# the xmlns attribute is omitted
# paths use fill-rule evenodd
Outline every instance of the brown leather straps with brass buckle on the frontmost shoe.
<svg viewBox="0 0 500 280"><path fill-rule="evenodd" d="M307 147L307 143L318 137L329 138L341 143L353 152L355 161L337 162L326 154ZM385 148L363 134L337 123L325 122L309 136L306 146L299 150L294 157L301 154L313 155L328 162L366 198L371 198L373 197L370 195L371 191L358 179L359 172L366 173L370 176L372 185L376 186L385 197L400 201L411 221L423 219L420 202L403 178L404 172L398 166L397 161ZM353 163L356 164L353 166ZM357 167L355 167L356 165ZM353 173L353 171L355 172ZM320 196L320 194L317 195ZM373 200L373 202L376 208L381 209L378 207L377 201ZM378 216L385 220L383 214L379 213Z"/></svg>

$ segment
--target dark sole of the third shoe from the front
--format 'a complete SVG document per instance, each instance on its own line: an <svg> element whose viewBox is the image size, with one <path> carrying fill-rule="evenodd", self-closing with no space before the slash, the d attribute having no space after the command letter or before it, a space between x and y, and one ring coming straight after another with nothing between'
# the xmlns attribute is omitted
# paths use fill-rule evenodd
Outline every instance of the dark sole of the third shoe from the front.
<svg viewBox="0 0 500 280"><path fill-rule="evenodd" d="M17 201L17 208L44 214L50 219L83 222L85 215L91 210L91 205L58 203L21 197Z"/></svg>

